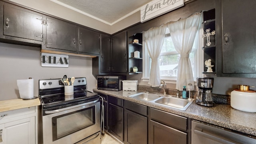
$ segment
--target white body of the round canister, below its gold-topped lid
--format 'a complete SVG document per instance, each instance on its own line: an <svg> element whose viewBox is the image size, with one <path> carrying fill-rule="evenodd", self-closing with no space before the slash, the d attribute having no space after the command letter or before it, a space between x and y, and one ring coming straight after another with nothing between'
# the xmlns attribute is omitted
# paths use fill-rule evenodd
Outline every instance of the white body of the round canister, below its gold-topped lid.
<svg viewBox="0 0 256 144"><path fill-rule="evenodd" d="M244 112L256 112L256 92L233 90L230 97L232 108Z"/></svg>

